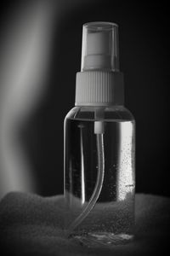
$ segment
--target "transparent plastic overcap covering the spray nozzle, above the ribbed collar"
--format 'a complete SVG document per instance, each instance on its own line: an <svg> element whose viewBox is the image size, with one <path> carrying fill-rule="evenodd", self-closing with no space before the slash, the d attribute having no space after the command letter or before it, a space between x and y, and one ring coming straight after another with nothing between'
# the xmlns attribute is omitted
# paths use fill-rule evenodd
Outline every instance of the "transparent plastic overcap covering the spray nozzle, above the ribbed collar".
<svg viewBox="0 0 170 256"><path fill-rule="evenodd" d="M82 29L82 67L88 70L119 71L118 26L90 22Z"/></svg>

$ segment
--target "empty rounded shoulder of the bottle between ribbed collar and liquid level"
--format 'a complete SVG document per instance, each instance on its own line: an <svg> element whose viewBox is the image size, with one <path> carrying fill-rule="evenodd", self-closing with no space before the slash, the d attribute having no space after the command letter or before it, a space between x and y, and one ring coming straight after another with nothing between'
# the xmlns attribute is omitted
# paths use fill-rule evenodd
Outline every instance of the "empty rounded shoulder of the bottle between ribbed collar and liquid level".
<svg viewBox="0 0 170 256"><path fill-rule="evenodd" d="M72 108L65 116L65 119L104 119L104 120L131 120L134 121L133 114L124 106L82 106Z"/></svg>

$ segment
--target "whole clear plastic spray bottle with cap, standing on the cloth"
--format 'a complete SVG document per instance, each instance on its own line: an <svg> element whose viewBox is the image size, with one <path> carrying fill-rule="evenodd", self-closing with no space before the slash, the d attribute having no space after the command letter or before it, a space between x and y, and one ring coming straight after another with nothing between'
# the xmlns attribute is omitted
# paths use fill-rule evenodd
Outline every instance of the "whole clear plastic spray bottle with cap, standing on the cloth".
<svg viewBox="0 0 170 256"><path fill-rule="evenodd" d="M65 230L88 246L133 239L134 129L123 107L116 24L83 26L76 106L65 117Z"/></svg>

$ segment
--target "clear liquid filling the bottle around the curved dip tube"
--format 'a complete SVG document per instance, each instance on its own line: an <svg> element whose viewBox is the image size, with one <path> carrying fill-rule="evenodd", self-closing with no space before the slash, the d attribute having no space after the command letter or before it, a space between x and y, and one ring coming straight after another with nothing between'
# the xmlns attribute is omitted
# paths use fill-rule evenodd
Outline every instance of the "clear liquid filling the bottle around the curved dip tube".
<svg viewBox="0 0 170 256"><path fill-rule="evenodd" d="M71 231L87 245L122 244L133 238L134 225L134 123L105 120L105 172L99 198ZM90 200L99 172L99 151L94 120L65 120L65 228L81 214Z"/></svg>

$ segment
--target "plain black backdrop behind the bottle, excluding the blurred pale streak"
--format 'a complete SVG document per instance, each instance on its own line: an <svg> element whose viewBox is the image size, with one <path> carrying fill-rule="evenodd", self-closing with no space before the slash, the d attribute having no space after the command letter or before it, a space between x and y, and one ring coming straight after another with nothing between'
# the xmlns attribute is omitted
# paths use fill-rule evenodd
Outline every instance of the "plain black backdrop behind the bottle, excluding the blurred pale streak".
<svg viewBox="0 0 170 256"><path fill-rule="evenodd" d="M27 2L26 2L27 3ZM56 3L58 3L56 1ZM66 7L67 3L63 5ZM3 20L21 6L2 3ZM74 106L76 73L81 65L82 25L111 21L119 25L120 66L125 106L136 119L136 191L170 195L169 189L169 13L163 3L129 5L82 1L62 8L54 30L48 90L20 131L37 179L37 193L63 193L63 120Z"/></svg>

